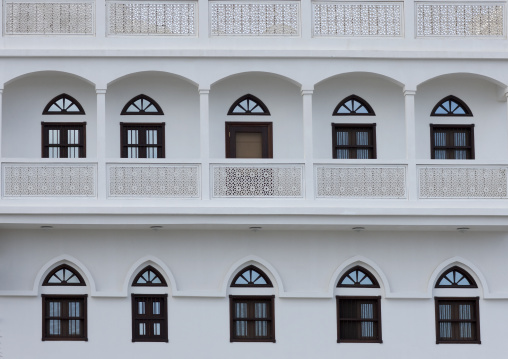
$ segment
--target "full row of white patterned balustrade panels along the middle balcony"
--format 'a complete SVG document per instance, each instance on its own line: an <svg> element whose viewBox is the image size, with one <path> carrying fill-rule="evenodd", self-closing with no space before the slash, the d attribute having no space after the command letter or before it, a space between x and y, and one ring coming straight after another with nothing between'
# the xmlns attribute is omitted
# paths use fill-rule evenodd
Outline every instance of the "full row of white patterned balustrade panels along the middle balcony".
<svg viewBox="0 0 508 359"><path fill-rule="evenodd" d="M313 170L315 195L305 193L305 171ZM97 163L4 162L2 198L202 198L210 199L408 199L406 164L212 163L210 181L197 163L107 163L106 182L98 183ZM419 164L419 200L508 199L508 165ZM317 203L317 202L316 202Z"/></svg>

